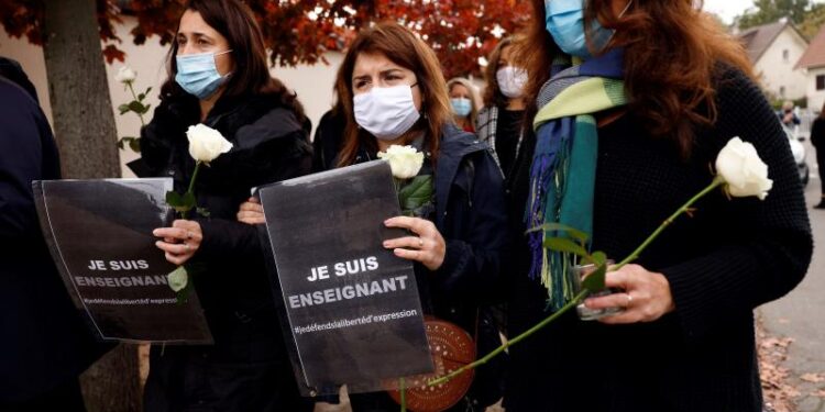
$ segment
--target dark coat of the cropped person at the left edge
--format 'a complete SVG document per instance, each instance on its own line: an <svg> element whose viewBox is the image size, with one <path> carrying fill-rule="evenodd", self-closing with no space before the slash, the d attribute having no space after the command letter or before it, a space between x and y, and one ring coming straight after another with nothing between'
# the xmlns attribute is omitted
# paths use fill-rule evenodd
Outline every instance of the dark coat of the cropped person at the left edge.
<svg viewBox="0 0 825 412"><path fill-rule="evenodd" d="M43 240L32 180L59 179L52 131L34 99L0 77L0 403L76 378L102 354Z"/></svg>

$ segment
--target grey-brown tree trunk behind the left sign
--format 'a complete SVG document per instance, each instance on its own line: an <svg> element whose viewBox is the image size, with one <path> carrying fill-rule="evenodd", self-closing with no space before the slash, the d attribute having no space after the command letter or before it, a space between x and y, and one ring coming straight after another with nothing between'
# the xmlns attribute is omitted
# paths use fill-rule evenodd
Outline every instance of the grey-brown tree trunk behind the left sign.
<svg viewBox="0 0 825 412"><path fill-rule="evenodd" d="M120 177L95 0L47 0L43 52L54 134L64 178ZM135 345L121 344L92 365L81 385L90 412L141 409Z"/></svg>

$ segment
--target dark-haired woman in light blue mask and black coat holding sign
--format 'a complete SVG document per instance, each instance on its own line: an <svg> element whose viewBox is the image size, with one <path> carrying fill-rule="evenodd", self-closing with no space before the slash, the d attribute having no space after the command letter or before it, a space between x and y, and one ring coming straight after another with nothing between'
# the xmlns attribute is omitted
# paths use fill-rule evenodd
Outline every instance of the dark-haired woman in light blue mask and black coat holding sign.
<svg viewBox="0 0 825 412"><path fill-rule="evenodd" d="M146 411L301 411L258 243L234 220L250 189L309 172L311 147L293 93L270 76L263 35L238 0L191 0L180 16L161 105L141 133L151 176L178 191L195 169L186 131L204 123L232 149L199 172L195 193L209 218L158 229L166 259L202 263L191 274L215 344L153 347Z"/></svg>

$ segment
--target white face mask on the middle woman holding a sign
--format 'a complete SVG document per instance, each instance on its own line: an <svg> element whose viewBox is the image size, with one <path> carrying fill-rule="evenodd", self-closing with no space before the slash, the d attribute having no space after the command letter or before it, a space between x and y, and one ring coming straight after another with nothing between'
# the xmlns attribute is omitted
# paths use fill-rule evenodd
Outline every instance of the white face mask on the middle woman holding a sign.
<svg viewBox="0 0 825 412"><path fill-rule="evenodd" d="M406 133L420 118L413 100L413 86L373 87L355 94L352 103L355 122L373 136L394 141Z"/></svg>

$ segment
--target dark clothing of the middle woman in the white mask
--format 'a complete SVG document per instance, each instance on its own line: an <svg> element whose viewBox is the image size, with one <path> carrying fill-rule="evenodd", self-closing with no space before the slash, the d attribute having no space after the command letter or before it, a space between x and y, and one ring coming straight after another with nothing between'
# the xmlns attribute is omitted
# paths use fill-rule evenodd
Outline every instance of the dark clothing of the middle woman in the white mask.
<svg viewBox="0 0 825 412"><path fill-rule="evenodd" d="M360 156L361 160L370 158L374 155ZM481 321L479 335L497 341L492 319L484 309L480 315L480 308L491 303L494 296L501 298L502 260L508 247L502 174L485 143L450 124L444 126L433 178L435 223L447 254L435 272L415 265L424 308L430 307L437 318L455 323L471 335ZM485 355L485 349L490 349L488 344L479 355ZM470 392L451 410L482 411L495 403L503 392L505 361L501 357L476 369ZM398 409L385 393L354 394L350 400L355 412Z"/></svg>

